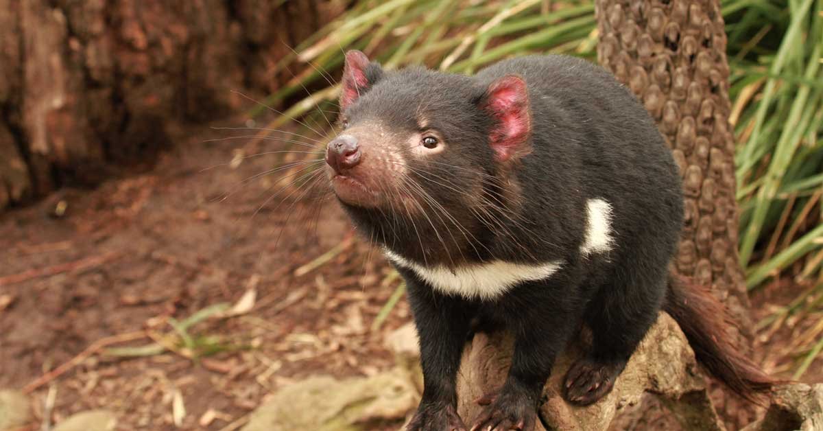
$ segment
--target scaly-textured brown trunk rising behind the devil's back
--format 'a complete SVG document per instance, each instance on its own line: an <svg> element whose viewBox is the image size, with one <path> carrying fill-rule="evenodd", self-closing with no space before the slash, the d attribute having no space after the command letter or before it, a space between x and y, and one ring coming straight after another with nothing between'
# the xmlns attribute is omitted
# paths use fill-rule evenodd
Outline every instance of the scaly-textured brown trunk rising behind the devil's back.
<svg viewBox="0 0 823 431"><path fill-rule="evenodd" d="M737 256L734 138L726 33L718 0L597 0L597 59L658 123L680 166L686 224L675 269L712 286L750 346L751 316ZM732 329L733 330L733 329ZM723 400L715 396L715 402ZM718 410L751 421L736 400ZM731 417L736 415L736 417Z"/></svg>

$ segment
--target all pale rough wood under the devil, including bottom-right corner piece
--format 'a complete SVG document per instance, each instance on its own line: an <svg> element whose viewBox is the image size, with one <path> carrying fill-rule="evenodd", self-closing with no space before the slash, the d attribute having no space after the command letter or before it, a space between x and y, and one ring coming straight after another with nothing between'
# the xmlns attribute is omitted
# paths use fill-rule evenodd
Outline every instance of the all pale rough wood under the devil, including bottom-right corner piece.
<svg viewBox="0 0 823 431"><path fill-rule="evenodd" d="M480 406L476 400L499 388L505 381L511 361L510 335L477 335L463 351L458 374L458 413L464 419L476 417ZM566 370L585 349L574 345L557 361L546 383L535 431L605 431L607 429L684 429L689 431L724 431L704 375L697 366L694 352L677 323L661 313L637 351L632 355L614 389L602 400L587 407L574 407L560 396ZM636 416L637 410L649 408L649 400L658 401L666 410L658 411L666 420L657 422L622 422L622 416ZM778 431L823 427L823 384L787 384L775 389L765 417L748 424L745 431ZM732 429L741 429L733 426Z"/></svg>

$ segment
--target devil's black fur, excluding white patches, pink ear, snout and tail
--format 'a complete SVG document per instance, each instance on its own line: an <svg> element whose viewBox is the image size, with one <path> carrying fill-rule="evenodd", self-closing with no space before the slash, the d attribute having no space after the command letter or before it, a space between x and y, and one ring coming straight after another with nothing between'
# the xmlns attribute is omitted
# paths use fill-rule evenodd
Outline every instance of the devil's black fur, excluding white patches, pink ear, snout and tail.
<svg viewBox="0 0 823 431"><path fill-rule="evenodd" d="M398 267L425 377L410 429L460 429L446 418L457 402L463 343L478 319L503 324L516 344L508 380L475 426L530 427L554 359L581 324L593 331L593 350L567 376L565 396L597 401L663 305L683 218L677 166L644 107L602 68L565 56L506 60L474 77L424 68L383 72L376 63L365 74L368 87L342 113L349 128L385 124L405 136L421 129L423 118L446 148L412 157L402 139L380 143L407 155L405 180L439 205L416 197L424 211L415 213L342 202L360 231L419 265L563 262L550 278L485 301L441 293ZM482 106L491 83L507 75L527 84L532 133L528 154L502 163L489 145L499 119ZM394 192L403 193L399 186ZM587 200L594 198L611 204L614 243L605 253L581 255Z"/></svg>

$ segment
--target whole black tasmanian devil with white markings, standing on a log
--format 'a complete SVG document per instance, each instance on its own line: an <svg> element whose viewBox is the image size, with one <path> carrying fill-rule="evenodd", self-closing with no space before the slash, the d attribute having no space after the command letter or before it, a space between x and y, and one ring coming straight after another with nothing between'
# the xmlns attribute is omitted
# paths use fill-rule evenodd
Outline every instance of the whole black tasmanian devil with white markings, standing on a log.
<svg viewBox="0 0 823 431"><path fill-rule="evenodd" d="M728 343L718 303L669 275L678 168L644 107L602 68L550 55L473 77L387 72L349 51L340 107L329 180L405 279L420 336L425 387L409 429L465 429L462 349L490 325L514 334L514 356L472 429L532 429L552 364L583 325L592 348L564 396L597 401L661 309L734 391L770 386Z"/></svg>

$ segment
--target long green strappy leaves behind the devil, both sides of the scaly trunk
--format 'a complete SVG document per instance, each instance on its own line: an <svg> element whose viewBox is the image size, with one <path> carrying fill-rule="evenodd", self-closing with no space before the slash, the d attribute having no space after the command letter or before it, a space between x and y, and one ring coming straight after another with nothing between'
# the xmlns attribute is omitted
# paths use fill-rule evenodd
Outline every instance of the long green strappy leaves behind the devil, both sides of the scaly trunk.
<svg viewBox="0 0 823 431"><path fill-rule="evenodd" d="M821 283L823 0L725 0L722 8L747 284L789 272ZM277 63L275 72L299 72L264 105L320 88L270 128L298 117L330 125L338 88L329 72L340 68L344 49L364 50L386 68L425 63L472 73L523 54L593 59L596 46L593 2L360 0Z"/></svg>

